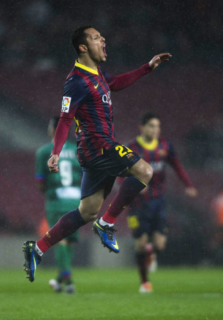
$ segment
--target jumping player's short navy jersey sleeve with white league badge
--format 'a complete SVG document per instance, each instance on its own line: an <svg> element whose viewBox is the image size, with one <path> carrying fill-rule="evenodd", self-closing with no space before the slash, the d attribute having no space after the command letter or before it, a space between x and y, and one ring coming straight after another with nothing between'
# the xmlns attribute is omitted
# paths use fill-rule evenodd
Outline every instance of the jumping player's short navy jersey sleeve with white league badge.
<svg viewBox="0 0 223 320"><path fill-rule="evenodd" d="M68 78L63 87L60 117L73 119L78 107L83 104L87 94L86 83L80 76L75 75Z"/></svg>

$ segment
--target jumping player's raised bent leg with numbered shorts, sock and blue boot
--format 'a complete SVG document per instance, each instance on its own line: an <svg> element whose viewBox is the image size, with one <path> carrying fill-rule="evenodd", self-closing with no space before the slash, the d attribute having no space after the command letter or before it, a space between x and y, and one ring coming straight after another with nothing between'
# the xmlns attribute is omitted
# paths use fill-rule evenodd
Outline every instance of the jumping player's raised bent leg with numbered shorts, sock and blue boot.
<svg viewBox="0 0 223 320"><path fill-rule="evenodd" d="M152 167L124 145L115 146L104 152L103 160L97 164L102 172L105 170L110 176L128 176L104 216L93 223L93 230L101 238L102 244L110 251L118 253L119 247L115 240L113 225L132 198L147 186L152 178Z"/></svg>

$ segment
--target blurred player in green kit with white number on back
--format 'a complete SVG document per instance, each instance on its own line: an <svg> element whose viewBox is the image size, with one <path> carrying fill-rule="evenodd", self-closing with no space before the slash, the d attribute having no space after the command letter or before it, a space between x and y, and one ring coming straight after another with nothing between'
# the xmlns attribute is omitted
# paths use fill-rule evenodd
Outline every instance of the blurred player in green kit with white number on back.
<svg viewBox="0 0 223 320"><path fill-rule="evenodd" d="M60 153L59 172L51 174L47 160L54 146L54 135L60 117L49 121L49 144L40 147L36 152L36 180L38 190L45 195L45 213L49 227L58 222L66 212L80 203L80 181L82 170L75 155L75 144L66 141ZM75 288L71 279L71 262L73 258L73 242L78 240L75 232L56 244L54 248L58 277L51 279L49 285L56 292L62 291L62 284L67 293L74 293Z"/></svg>

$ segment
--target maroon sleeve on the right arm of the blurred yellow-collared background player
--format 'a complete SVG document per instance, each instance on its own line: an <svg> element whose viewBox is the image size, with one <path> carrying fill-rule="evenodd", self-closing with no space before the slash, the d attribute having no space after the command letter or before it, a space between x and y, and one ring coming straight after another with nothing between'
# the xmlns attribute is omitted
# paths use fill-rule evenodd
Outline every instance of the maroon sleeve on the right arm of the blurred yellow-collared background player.
<svg viewBox="0 0 223 320"><path fill-rule="evenodd" d="M174 150L174 146L170 141L168 141L168 146L169 146L169 153L167 157L167 162L174 168L176 174L180 178L181 181L186 185L186 187L192 187L192 183L189 179L189 176L187 175L187 172L185 168L183 168L183 165L180 163L176 152Z"/></svg>

